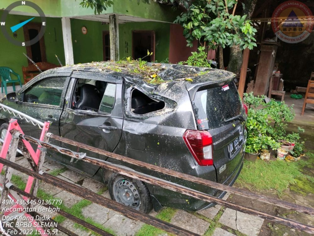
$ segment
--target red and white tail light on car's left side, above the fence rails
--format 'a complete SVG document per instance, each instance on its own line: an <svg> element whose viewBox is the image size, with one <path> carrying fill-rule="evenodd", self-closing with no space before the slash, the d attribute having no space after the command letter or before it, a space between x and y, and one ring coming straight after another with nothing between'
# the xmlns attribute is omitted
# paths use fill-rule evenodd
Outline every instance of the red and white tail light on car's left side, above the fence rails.
<svg viewBox="0 0 314 236"><path fill-rule="evenodd" d="M200 166L212 166L213 138L208 131L187 130L183 134L184 142Z"/></svg>

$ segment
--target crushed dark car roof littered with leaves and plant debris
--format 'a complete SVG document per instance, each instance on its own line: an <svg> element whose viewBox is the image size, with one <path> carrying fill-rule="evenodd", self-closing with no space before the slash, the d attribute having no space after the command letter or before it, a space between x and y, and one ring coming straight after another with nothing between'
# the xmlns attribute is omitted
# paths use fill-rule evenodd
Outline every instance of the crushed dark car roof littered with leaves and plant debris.
<svg viewBox="0 0 314 236"><path fill-rule="evenodd" d="M145 61L135 60L92 62L63 68L122 76L134 83L144 81L155 88L160 84L169 82L184 82L191 85L203 82L207 84L219 83L230 81L235 76L226 70L188 65L146 63Z"/></svg>

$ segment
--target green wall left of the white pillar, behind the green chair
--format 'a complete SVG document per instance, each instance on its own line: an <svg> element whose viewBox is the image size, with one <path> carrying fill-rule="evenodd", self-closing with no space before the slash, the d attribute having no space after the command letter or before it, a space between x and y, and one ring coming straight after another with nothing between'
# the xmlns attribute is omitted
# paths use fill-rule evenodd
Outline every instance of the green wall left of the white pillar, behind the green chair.
<svg viewBox="0 0 314 236"><path fill-rule="evenodd" d="M3 14L3 11L0 10L0 17ZM6 21L6 26L9 28L12 25L18 24L21 21L29 19L29 16L21 15L9 15ZM38 22L34 19L34 22ZM56 32L56 34L55 34ZM23 29L17 31L17 39L22 41L24 40ZM46 46L46 57L47 61L59 65L55 54L58 55L59 59L63 64L65 64L64 59L64 50L63 50L63 38L62 38L62 27L60 18L48 18L47 17L47 27L44 35L45 46ZM7 66L14 70L16 73L19 73L21 79L23 80L22 66L27 66L27 58L23 55L26 54L25 47L15 46L11 42L8 42L4 38L3 34L0 33L0 66Z"/></svg>

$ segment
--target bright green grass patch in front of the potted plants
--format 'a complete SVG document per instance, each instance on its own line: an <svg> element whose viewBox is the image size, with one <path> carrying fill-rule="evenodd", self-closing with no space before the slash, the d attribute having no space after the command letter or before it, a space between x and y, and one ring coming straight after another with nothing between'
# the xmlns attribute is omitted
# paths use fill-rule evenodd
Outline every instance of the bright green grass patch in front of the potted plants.
<svg viewBox="0 0 314 236"><path fill-rule="evenodd" d="M237 187L248 188L252 191L276 190L282 196L289 186L297 185L305 192L312 192L314 178L302 173L302 168L312 162L313 154L307 153L309 159L298 162L281 160L250 162L244 160L243 169L236 180ZM295 188L297 189L297 188ZM304 194L304 193L303 193Z"/></svg>

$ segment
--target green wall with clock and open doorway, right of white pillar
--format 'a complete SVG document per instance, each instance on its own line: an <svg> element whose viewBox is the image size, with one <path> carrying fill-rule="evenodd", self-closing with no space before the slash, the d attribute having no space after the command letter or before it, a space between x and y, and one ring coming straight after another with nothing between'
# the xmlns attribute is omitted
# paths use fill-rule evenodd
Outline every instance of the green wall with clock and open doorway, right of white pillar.
<svg viewBox="0 0 314 236"><path fill-rule="evenodd" d="M88 33L83 35L82 26ZM71 19L74 63L86 63L103 60L102 31L109 30L109 25L101 22ZM132 56L132 31L155 31L155 60L169 57L170 24L160 22L132 22L119 24L120 59ZM75 42L76 41L76 42Z"/></svg>

